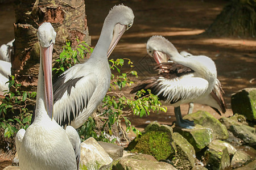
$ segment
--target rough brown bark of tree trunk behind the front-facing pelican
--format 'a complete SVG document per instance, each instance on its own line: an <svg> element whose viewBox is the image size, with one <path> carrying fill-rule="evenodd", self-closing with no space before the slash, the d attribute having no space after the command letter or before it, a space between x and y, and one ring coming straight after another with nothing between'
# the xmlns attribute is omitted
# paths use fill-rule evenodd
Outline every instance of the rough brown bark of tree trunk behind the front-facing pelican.
<svg viewBox="0 0 256 170"><path fill-rule="evenodd" d="M38 27L50 22L57 32L53 59L62 51L65 40L76 45L76 37L90 45L84 0L16 0L14 55L11 74L22 90L35 91L39 69Z"/></svg>

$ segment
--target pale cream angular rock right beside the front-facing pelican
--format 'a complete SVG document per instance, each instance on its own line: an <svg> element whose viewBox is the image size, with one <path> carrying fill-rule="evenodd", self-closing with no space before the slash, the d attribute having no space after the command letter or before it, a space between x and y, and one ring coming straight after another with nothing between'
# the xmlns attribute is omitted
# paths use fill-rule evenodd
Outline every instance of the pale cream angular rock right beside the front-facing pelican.
<svg viewBox="0 0 256 170"><path fill-rule="evenodd" d="M86 169L111 169L112 158L90 137L81 143L80 166Z"/></svg>

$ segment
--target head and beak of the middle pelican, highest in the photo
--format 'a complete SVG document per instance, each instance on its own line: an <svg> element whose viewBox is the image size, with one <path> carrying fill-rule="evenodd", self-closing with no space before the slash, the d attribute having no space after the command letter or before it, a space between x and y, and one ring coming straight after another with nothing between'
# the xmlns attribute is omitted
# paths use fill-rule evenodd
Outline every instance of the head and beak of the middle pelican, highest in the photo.
<svg viewBox="0 0 256 170"><path fill-rule="evenodd" d="M109 11L109 14L105 20L105 22L109 21L115 22L115 26L113 29L113 38L109 46L109 50L107 56L113 52L117 42L121 39L123 33L128 30L133 25L134 14L131 8L124 5L117 5Z"/></svg>

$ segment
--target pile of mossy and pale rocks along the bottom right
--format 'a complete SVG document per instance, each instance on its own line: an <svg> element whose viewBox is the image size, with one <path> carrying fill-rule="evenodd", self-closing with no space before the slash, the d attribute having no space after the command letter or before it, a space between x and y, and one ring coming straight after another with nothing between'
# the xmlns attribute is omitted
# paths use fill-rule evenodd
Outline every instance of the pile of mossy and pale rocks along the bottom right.
<svg viewBox="0 0 256 170"><path fill-rule="evenodd" d="M232 96L232 117L217 120L204 111L184 116L194 129L152 123L125 151L89 138L81 145L80 169L255 169L255 103L250 88Z"/></svg>

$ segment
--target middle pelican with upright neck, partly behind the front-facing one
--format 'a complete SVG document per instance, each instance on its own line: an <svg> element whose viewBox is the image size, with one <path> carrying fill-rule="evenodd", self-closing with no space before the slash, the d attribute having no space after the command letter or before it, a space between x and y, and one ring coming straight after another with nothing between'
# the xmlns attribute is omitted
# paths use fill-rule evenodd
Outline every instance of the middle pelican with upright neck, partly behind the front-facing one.
<svg viewBox="0 0 256 170"><path fill-rule="evenodd" d="M114 6L104 21L100 39L85 62L53 80L53 117L63 128L79 128L102 102L110 86L108 57L123 33L133 25L133 10Z"/></svg>

